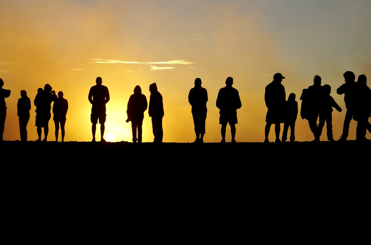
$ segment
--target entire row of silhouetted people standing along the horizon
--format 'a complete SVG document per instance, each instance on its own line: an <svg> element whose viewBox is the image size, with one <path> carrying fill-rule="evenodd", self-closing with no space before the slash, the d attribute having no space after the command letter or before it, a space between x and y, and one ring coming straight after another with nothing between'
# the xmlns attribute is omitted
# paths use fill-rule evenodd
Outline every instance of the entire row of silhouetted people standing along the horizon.
<svg viewBox="0 0 371 245"><path fill-rule="evenodd" d="M265 126L265 140L268 143L268 136L270 127L275 125L275 142L285 142L287 140L288 129L290 128L290 142L295 141L295 122L298 116L298 102L296 102L296 95L290 93L288 100L286 100L285 87L281 84L285 77L281 73L276 73L273 76L273 81L265 88L265 104L267 106L266 126ZM355 82L355 75L353 72L347 71L344 73L345 83L341 85L336 92L339 95L344 94L345 106L347 112L344 119L344 127L342 136L339 141L345 141L348 137L349 124L352 119L357 121L356 138L359 141L366 140L366 130L371 133L371 124L368 122L368 117L371 116L371 90L367 86L367 78L365 75L359 75L357 82ZM96 124L99 121L101 129L101 142L105 142L104 123L106 121L106 103L109 102L109 91L106 86L102 85L102 78L97 77L96 85L92 86L88 99L92 104L91 109L91 123L92 123L92 142L96 142ZM219 108L220 117L219 124L221 124L221 143L225 143L226 127L229 123L232 143L235 143L237 109L241 108L241 100L237 89L232 87L233 78L227 77L226 86L219 90L216 106ZM205 130L205 122L207 116L208 101L207 90L201 86L200 78L194 80L194 87L188 94L188 102L192 106L191 113L194 122L194 132L196 140L194 143L203 143ZM6 103L5 98L10 96L10 90L3 89L4 82L0 78L0 140L3 141L4 123L6 119ZM147 98L142 94L141 87L135 86L134 94L130 96L127 105L126 122L131 121L132 128L132 142L142 142L142 124L144 119L144 112L148 107L148 114L152 120L152 131L154 135L154 143L161 143L163 138L162 117L164 117L164 105L162 102L162 95L157 90L156 83L152 83L149 87L150 102L147 103ZM21 90L21 98L17 103L17 115L19 116L19 131L21 141L27 141L27 123L30 118L31 102L27 97L27 92ZM311 129L315 142L319 141L322 134L322 129L326 122L327 139L335 141L332 135L332 112L333 107L342 112L341 107L335 102L330 95L331 86L321 85L321 77L316 75L313 79L313 85L308 89L303 89L300 99L302 100L300 115L302 119L308 120L309 128ZM55 91L49 84L44 86L44 89L39 88L34 100L36 106L36 123L37 127L37 141L41 141L42 128L44 128L44 139L47 141L49 132L49 120L51 118L51 103L53 103L53 120L55 123L55 140L58 141L59 125L62 133L62 142L65 137L65 123L66 114L68 111L68 101L63 98L63 92L58 92L58 97ZM319 123L317 125L317 120ZM282 141L279 139L280 124L283 125Z"/></svg>

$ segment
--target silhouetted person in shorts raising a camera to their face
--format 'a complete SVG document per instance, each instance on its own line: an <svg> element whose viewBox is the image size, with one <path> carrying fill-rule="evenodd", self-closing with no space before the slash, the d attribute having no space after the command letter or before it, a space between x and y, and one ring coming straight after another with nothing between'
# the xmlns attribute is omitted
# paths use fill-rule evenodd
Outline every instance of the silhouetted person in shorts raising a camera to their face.
<svg viewBox="0 0 371 245"><path fill-rule="evenodd" d="M47 135L49 133L49 120L52 116L50 114L50 109L52 108L52 102L56 101L56 99L57 96L55 95L55 91L52 91L52 86L49 84L44 86L43 91L42 89L37 90L37 95L33 101L34 105L36 106L35 126L37 127L37 135L39 136L37 141L41 141L41 128L44 128L45 138L43 141L47 141Z"/></svg>

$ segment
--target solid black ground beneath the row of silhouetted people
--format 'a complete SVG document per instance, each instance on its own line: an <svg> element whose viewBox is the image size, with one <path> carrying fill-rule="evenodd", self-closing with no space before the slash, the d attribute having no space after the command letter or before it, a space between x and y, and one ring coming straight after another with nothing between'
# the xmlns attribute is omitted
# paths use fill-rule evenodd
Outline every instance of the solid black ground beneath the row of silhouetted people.
<svg viewBox="0 0 371 245"><path fill-rule="evenodd" d="M198 231L218 240L228 233L228 243L239 234L304 241L329 227L343 238L364 224L355 217L369 203L370 146L2 142L5 223L32 231L42 222L43 234L56 231L49 224L80 235L82 227L135 238L153 231L147 236L161 241Z"/></svg>

